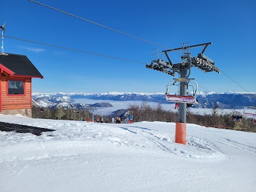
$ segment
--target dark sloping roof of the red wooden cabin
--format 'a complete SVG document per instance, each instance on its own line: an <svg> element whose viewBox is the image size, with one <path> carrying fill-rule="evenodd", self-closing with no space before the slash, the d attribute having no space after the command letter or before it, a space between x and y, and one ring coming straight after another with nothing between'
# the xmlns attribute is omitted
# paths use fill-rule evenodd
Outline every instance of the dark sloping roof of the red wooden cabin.
<svg viewBox="0 0 256 192"><path fill-rule="evenodd" d="M44 78L27 56L20 54L0 54L0 64L12 70L14 76L29 76Z"/></svg>

